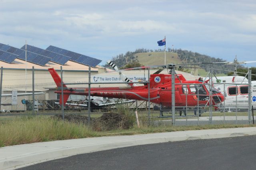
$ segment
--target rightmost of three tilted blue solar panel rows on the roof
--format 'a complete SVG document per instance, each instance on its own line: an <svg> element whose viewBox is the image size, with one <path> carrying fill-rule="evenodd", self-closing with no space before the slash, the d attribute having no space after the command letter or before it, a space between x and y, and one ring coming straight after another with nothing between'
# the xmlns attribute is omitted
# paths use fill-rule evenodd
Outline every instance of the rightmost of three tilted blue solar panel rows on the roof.
<svg viewBox="0 0 256 170"><path fill-rule="evenodd" d="M65 53L64 55L66 55L68 57L71 57L70 58L71 61L75 61L77 63L92 66L92 67L96 67L96 65L98 65L102 61L100 59L88 57L86 55L78 54L78 53L68 51L66 49L62 49L62 48L59 48L59 47L54 47L52 45L47 47L46 50L52 51L52 52L55 52L55 53L59 53L59 54L64 54Z"/></svg>

